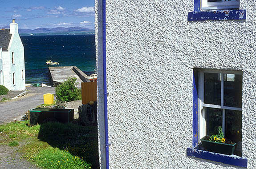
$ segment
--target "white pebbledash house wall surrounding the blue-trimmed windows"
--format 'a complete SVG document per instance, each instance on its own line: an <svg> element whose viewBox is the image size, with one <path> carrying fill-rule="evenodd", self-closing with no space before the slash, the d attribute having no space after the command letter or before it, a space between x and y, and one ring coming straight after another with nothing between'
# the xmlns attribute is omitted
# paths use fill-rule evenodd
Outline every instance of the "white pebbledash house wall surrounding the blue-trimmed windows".
<svg viewBox="0 0 256 169"><path fill-rule="evenodd" d="M105 169L102 0L95 1L98 133ZM246 20L188 22L193 0L107 0L110 169L237 169L187 156L193 68L243 72L242 157L256 168L256 1Z"/></svg>

